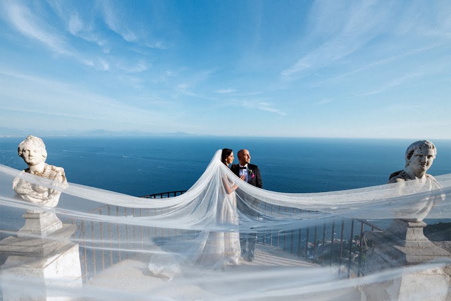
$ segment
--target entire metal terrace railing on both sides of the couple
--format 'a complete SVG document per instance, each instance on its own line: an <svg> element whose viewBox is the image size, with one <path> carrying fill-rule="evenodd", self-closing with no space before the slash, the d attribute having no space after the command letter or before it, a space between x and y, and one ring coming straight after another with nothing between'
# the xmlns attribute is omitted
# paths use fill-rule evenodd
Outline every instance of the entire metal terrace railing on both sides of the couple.
<svg viewBox="0 0 451 301"><path fill-rule="evenodd" d="M182 195L185 191L171 191L143 196L147 199L163 199ZM265 210L271 213L292 212L311 213L314 211L281 207L265 204ZM267 208L271 206L270 208ZM159 209L165 210L165 209ZM162 211L159 211L162 212ZM105 205L95 208L89 213L108 216L143 217L155 215L154 209L135 209L120 206ZM75 223L75 221L73 221ZM119 225L103 222L78 222L78 238L80 240L80 262L82 263L83 279L95 276L98 270L105 270L115 264L130 258L134 253L143 250L144 237L169 237L181 234L176 229L143 227L139 225ZM98 223L96 225L95 223ZM358 227L359 231L355 231ZM337 231L338 230L338 231ZM363 247L365 231L380 230L366 220L342 218L332 222L318 224L312 227L299 228L288 231L265 230L259 233L258 241L265 245L275 246L288 253L296 254L299 258L319 265L335 265L339 267L339 274L343 277L361 275L361 266L366 260L366 247ZM186 232L186 231L185 231ZM186 233L194 233L187 231ZM355 232L358 234L354 235ZM96 242L95 237L100 241ZM92 240L91 240L91 239ZM147 238L146 238L147 239ZM114 242L117 242L113 245ZM126 244L121 247L121 243ZM371 247L371 243L370 243ZM136 251L132 251L136 250ZM88 265L88 262L90 263Z"/></svg>

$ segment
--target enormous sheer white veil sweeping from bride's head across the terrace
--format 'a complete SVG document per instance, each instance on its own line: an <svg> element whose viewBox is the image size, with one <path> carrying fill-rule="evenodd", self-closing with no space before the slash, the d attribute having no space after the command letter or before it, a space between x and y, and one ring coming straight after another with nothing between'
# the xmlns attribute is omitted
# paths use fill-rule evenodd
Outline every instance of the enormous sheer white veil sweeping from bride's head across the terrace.
<svg viewBox="0 0 451 301"><path fill-rule="evenodd" d="M364 256L368 243L361 235L364 227L383 229L391 219L451 217L449 174L403 185L279 193L240 180L220 162L220 150L186 193L170 198L150 200L71 183L62 186L3 165L0 178L1 238L17 234L25 223L25 210L55 213L63 224L76 225L76 231L71 237L45 239L79 244L84 282L77 288L58 279L50 285L31 275L3 273L3 289L36 293L44 285L55 295L73 297L230 300L304 294L334 299L343 289L354 293L359 285L405 272L393 268L377 276L353 277L360 269L357 273L351 263L358 262L360 268L368 259ZM45 188L40 191L61 192L58 206L19 198L13 190L17 178ZM361 226L357 238L352 234L357 228L354 221ZM349 241L343 242L349 234ZM240 247L240 238L243 244L243 238L254 235L258 245L268 246L258 263L246 260ZM335 254L334 246L339 245ZM292 264L280 259L283 252ZM3 264L6 257L0 259ZM347 273L338 276L348 262ZM410 269L443 264L449 262Z"/></svg>

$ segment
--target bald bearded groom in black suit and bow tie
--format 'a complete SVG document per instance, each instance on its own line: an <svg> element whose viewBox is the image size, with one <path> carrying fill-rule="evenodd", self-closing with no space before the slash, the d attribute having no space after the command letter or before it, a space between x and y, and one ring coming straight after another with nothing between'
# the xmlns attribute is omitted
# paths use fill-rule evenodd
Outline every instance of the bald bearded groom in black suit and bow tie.
<svg viewBox="0 0 451 301"><path fill-rule="evenodd" d="M240 165L232 165L231 171L237 175L239 178L241 178L243 175L245 176L243 181L246 181L247 183L258 187L263 188L262 183L262 177L260 176L260 170L257 165L251 164L251 154L249 154L249 150L247 149L240 149L238 152L238 161L240 162ZM245 196L244 196L245 197ZM246 198L246 203L244 204L243 201L239 201L237 203L238 208L240 211L250 217L258 217L258 208L260 207L260 201L253 198L248 197ZM240 245L241 245L241 254L244 254L246 252L246 242L248 243L248 256L249 261L254 260L254 250L255 250L255 243L257 241L257 233L240 233Z"/></svg>

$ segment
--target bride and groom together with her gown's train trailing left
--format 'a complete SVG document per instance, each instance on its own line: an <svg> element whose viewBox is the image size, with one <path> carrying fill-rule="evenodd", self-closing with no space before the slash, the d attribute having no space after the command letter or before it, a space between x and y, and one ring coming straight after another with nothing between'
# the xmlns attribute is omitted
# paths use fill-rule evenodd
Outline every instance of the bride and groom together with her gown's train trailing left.
<svg viewBox="0 0 451 301"><path fill-rule="evenodd" d="M148 265L153 275L171 279L181 272L182 266L194 264L217 269L239 265L241 257L254 260L257 233L249 232L257 220L260 203L239 188L242 187L239 181L259 188L263 184L259 168L250 164L251 155L247 149L238 152L238 159L239 164L232 165L230 169L237 178L227 172L229 165L234 162L233 151L224 148L221 153L222 163L218 163L219 181L212 181L209 188L190 204L195 206L194 210L202 208L198 210L200 215L196 216L199 224L214 226L210 231L197 232L195 236L191 236L192 232L189 234L189 231L181 234L182 239L175 235L156 245ZM226 170L222 164L227 166ZM240 231L236 230L238 228L241 228Z"/></svg>

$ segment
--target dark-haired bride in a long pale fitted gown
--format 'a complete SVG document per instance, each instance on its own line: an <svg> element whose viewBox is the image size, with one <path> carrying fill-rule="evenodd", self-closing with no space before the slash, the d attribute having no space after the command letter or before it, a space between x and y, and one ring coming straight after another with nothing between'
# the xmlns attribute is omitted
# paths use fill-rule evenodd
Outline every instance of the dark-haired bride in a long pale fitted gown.
<svg viewBox="0 0 451 301"><path fill-rule="evenodd" d="M222 149L221 162L229 168L234 162L234 153L230 148ZM223 189L219 191L220 202L216 207L216 223L218 226L239 225L237 211L237 185L227 176L222 175ZM241 248L239 232L210 232L205 247L197 260L204 266L223 267L240 264Z"/></svg>

